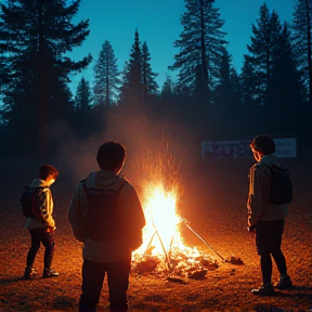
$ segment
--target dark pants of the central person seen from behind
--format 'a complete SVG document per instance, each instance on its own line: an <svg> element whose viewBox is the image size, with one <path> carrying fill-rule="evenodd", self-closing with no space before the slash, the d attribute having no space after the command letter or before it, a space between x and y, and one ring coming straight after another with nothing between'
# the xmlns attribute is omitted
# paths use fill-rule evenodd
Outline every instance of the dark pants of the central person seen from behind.
<svg viewBox="0 0 312 312"><path fill-rule="evenodd" d="M127 290L130 269L131 259L112 263L100 263L83 259L82 294L79 302L80 311L96 311L105 273L107 273L110 311L127 311Z"/></svg>

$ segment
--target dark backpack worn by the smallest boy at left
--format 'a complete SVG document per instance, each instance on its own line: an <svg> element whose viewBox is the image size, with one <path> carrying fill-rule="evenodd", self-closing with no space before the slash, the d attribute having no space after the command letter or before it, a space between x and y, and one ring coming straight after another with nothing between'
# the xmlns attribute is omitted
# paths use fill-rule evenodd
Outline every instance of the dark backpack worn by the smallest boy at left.
<svg viewBox="0 0 312 312"><path fill-rule="evenodd" d="M22 187L20 202L22 205L23 214L27 218L41 219L39 209L36 211L36 205L34 203L35 195L39 194L43 188L48 186L30 187L28 185Z"/></svg>

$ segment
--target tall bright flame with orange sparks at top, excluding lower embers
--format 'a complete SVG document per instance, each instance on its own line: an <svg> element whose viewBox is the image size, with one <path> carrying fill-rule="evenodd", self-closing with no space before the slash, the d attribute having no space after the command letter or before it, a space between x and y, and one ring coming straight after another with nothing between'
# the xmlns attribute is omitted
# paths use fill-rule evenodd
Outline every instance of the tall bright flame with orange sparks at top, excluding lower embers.
<svg viewBox="0 0 312 312"><path fill-rule="evenodd" d="M162 138L159 146L154 144L151 151L147 150L146 157L139 166L145 173L140 179L143 186L140 197L146 225L143 229L143 244L132 253L132 260L140 263L141 260L144 262L144 258L157 258L165 261L159 268L165 264L169 272L187 266L199 268L203 256L196 247L186 247L180 233L182 218L177 213L182 190L179 187L180 166L170 154L166 138Z"/></svg>

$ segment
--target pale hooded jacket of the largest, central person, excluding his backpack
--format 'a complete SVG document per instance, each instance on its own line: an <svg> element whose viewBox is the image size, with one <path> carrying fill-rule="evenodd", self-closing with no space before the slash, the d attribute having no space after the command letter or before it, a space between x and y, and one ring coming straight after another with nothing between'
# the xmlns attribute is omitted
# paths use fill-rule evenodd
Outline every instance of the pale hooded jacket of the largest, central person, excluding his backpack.
<svg viewBox="0 0 312 312"><path fill-rule="evenodd" d="M123 185L122 185L123 184ZM114 171L91 172L84 181L87 188L114 190L122 185L118 195L118 214L122 233L113 242L94 240L86 237L87 194L83 182L77 185L68 208L68 221L74 237L83 243L82 257L94 262L117 262L131 259L132 250L142 244L145 217L134 187Z"/></svg>

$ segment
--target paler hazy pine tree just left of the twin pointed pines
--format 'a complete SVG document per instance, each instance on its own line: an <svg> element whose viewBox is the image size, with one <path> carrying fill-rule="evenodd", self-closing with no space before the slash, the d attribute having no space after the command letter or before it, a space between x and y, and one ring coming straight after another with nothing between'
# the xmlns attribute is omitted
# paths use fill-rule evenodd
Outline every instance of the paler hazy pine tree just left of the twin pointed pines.
<svg viewBox="0 0 312 312"><path fill-rule="evenodd" d="M117 58L112 44L106 40L94 67L94 105L110 106L117 103L120 88Z"/></svg>

